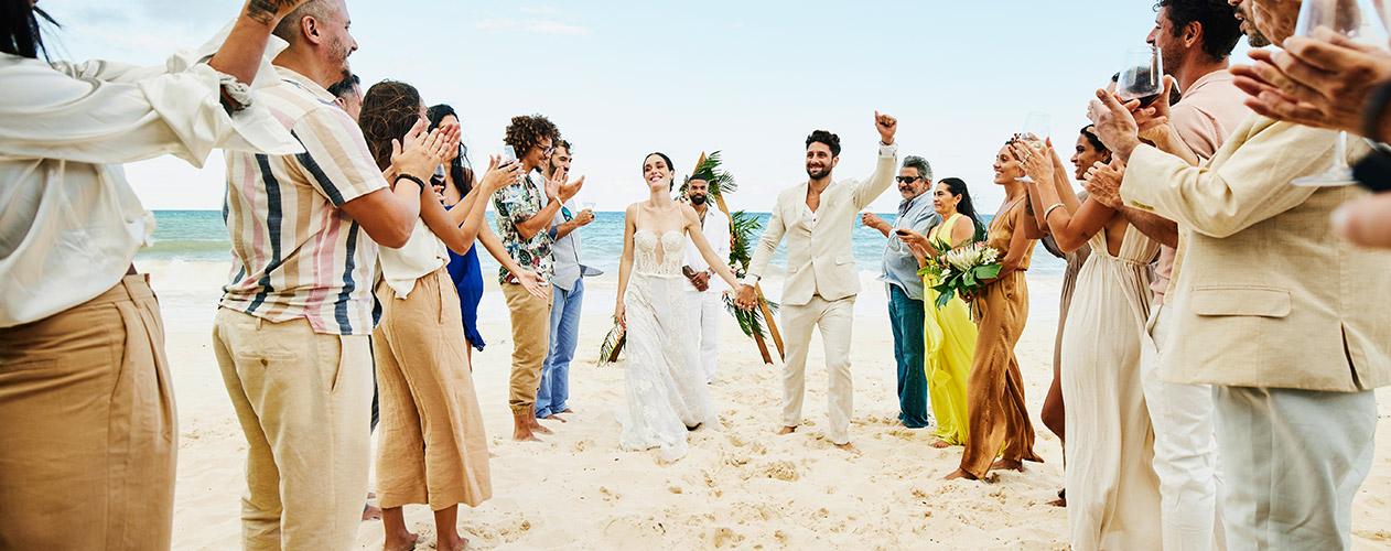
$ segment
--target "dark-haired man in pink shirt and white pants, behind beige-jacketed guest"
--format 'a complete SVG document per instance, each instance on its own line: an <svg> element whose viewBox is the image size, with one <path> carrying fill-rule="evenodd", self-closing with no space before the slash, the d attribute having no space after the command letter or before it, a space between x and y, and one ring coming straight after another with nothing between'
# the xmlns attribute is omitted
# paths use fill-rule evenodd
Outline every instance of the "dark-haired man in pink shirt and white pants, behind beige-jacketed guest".
<svg viewBox="0 0 1391 551"><path fill-rule="evenodd" d="M1245 95L1227 71L1228 57L1239 39L1241 26L1227 0L1159 1L1155 29L1146 39L1159 49L1164 71L1171 77L1164 82L1164 93L1152 106L1153 117L1166 117L1168 124L1146 132L1159 149L1188 161L1205 163L1251 117L1251 110L1242 104ZM1174 92L1175 82L1184 97L1170 107L1167 96ZM1136 230L1160 243L1150 285L1155 302L1148 331L1142 335L1146 342L1141 346L1141 377L1145 405L1155 427L1153 465L1160 481L1164 548L1221 548L1217 515L1221 479L1217 476L1212 388L1160 378L1160 365L1170 360L1160 351L1175 316L1174 308L1166 305L1166 292L1178 256L1178 224L1125 206L1116 186L1103 189L1109 182L1107 178L1091 179L1091 196L1123 213Z"/></svg>

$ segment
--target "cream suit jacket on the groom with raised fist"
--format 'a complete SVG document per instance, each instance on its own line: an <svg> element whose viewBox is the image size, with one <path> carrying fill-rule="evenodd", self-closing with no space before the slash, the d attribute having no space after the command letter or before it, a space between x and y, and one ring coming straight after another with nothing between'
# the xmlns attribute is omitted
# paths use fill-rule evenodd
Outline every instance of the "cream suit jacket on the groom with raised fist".
<svg viewBox="0 0 1391 551"><path fill-rule="evenodd" d="M812 223L807 209L810 182L785 189L778 195L768 228L758 239L758 248L746 277L757 282L768 270L778 243L787 238L787 280L782 303L805 306L814 295L826 301L840 301L860 294L860 273L851 252L851 235L860 210L883 195L897 170L897 145L879 146L879 163L874 175L860 184L835 182L821 193L821 206Z"/></svg>

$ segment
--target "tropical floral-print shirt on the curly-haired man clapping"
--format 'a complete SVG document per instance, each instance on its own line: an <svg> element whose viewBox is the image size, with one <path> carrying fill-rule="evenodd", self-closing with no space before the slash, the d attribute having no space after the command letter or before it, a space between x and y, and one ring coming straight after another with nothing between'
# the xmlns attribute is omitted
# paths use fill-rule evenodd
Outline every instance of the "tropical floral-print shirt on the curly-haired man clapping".
<svg viewBox="0 0 1391 551"><path fill-rule="evenodd" d="M498 214L498 235L502 238L502 246L512 256L512 260L524 270L536 271L541 276L542 282L551 282L551 277L555 274L555 259L551 256L551 245L555 241L551 238L551 232L538 231L531 239L526 239L517 231L517 224L531 220L545 207L545 193L541 191L542 184L536 182L537 178L540 178L538 173L531 173L524 179L498 189L492 195L492 209ZM499 269L498 281L513 282L512 273Z"/></svg>

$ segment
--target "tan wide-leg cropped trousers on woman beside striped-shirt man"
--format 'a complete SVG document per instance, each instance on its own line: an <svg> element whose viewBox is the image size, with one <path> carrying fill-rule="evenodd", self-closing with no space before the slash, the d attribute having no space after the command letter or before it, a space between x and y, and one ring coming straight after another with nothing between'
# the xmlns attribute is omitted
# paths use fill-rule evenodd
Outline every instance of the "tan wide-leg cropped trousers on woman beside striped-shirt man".
<svg viewBox="0 0 1391 551"><path fill-rule="evenodd" d="M459 295L441 267L403 299L377 285L373 331L381 431L377 497L383 508L477 506L492 497L488 436L473 390Z"/></svg>

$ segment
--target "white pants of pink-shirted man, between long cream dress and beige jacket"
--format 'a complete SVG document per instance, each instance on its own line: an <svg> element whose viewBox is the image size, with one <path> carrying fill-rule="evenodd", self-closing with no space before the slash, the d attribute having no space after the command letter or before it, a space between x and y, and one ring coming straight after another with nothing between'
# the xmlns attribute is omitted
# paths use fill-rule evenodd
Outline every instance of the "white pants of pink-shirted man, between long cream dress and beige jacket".
<svg viewBox="0 0 1391 551"><path fill-rule="evenodd" d="M1205 384L1159 380L1160 358L1173 309L1156 305L1148 335L1141 337L1145 405L1155 427L1155 473L1159 474L1160 530L1166 551L1223 548L1221 488L1213 391Z"/></svg>

